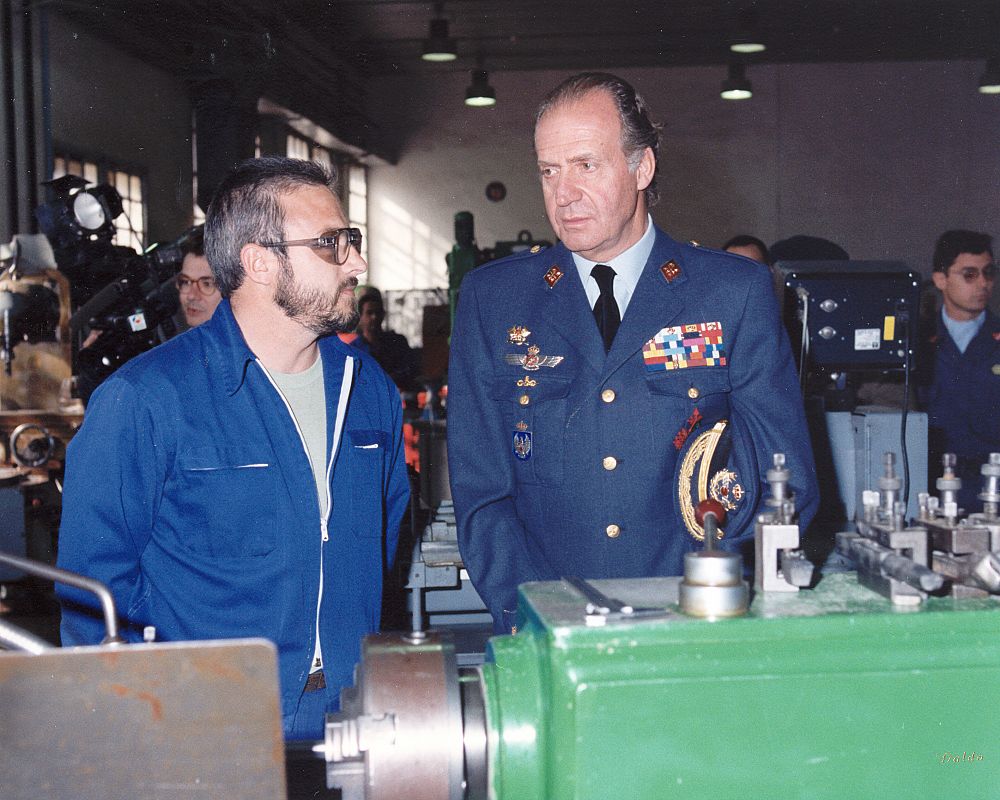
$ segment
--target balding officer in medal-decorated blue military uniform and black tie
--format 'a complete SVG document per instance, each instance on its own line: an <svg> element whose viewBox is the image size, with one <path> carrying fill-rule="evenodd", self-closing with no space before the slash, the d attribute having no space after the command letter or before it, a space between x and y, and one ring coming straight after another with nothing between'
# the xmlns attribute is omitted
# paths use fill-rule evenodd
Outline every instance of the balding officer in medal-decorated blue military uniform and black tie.
<svg viewBox="0 0 1000 800"><path fill-rule="evenodd" d="M802 401L767 268L652 223L659 133L625 81L584 73L542 103L535 150L561 240L472 271L451 342L448 456L462 557L497 631L518 584L677 575L728 511L753 533L784 453L817 503Z"/></svg>

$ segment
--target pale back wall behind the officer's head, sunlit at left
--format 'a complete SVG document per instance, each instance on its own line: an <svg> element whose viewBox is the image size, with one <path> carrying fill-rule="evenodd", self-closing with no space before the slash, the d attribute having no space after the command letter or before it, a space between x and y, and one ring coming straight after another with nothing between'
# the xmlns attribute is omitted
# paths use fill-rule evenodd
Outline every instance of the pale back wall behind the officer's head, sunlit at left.
<svg viewBox="0 0 1000 800"><path fill-rule="evenodd" d="M718 67L623 69L663 122L662 199L679 239L719 246L822 236L855 259L928 271L938 234L1000 234L1000 98L976 91L981 62L752 67L754 97L719 98ZM370 113L398 148L370 177L371 279L388 289L446 283L456 211L481 247L521 229L551 237L535 178L533 111L568 73L490 73L493 108L462 104L469 75L371 83ZM507 198L490 202L490 181Z"/></svg>

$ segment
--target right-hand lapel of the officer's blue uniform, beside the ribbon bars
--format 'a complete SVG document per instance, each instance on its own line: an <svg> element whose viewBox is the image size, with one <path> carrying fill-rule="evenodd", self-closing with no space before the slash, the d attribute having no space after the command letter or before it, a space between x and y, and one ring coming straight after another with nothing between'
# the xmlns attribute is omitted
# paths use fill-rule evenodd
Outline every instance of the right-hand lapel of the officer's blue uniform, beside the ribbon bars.
<svg viewBox="0 0 1000 800"><path fill-rule="evenodd" d="M662 271L670 262L677 269L673 280L667 280ZM670 274L673 270L667 268L667 272ZM681 248L657 229L653 250L625 309L621 327L604 363L603 377L614 373L661 328L674 322L684 309L683 292L679 290L687 280Z"/></svg>

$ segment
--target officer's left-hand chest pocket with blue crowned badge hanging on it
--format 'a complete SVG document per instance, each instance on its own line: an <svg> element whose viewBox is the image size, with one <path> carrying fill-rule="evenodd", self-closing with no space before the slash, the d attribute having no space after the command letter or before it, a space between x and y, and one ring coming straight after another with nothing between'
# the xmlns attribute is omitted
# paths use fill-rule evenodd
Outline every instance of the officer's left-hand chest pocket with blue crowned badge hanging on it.
<svg viewBox="0 0 1000 800"><path fill-rule="evenodd" d="M519 483L562 484L570 385L569 378L533 377L530 372L493 381L490 398L500 408Z"/></svg>

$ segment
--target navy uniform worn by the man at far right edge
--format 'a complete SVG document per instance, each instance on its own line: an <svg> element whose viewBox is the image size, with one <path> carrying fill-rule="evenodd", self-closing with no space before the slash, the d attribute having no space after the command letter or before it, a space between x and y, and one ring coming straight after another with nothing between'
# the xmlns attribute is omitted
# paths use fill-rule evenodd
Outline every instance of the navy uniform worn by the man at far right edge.
<svg viewBox="0 0 1000 800"><path fill-rule="evenodd" d="M933 373L927 396L932 470L942 453L954 453L962 479L958 504L982 510L980 468L1000 451L1000 318L990 311L979 332L959 352L941 315L930 338Z"/></svg>

